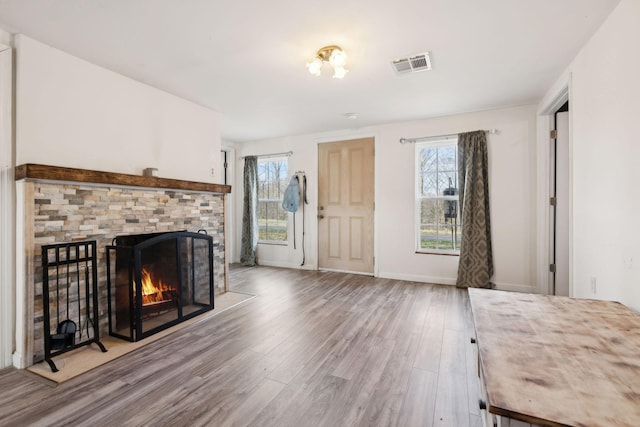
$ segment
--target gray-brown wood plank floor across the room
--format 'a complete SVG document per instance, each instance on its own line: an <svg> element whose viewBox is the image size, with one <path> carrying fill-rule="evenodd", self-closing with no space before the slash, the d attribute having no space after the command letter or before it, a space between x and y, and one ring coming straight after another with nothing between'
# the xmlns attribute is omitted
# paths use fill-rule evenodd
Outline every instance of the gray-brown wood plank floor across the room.
<svg viewBox="0 0 640 427"><path fill-rule="evenodd" d="M57 387L0 371L0 425L479 427L466 291L252 268L258 295Z"/></svg>

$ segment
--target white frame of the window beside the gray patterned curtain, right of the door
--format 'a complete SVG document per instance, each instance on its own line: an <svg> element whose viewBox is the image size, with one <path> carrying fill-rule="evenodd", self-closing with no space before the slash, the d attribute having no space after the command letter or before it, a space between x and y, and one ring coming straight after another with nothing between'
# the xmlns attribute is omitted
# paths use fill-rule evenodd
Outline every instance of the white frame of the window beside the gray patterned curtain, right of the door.
<svg viewBox="0 0 640 427"><path fill-rule="evenodd" d="M458 202L457 206L457 216L459 218L459 227L460 236L462 236L462 217L459 207L459 196L444 196L444 195L436 195L436 196L424 196L422 194L421 188L421 177L422 170L420 167L420 151L425 147L446 147L453 146L456 150L456 161L455 161L455 175L457 177L458 174L458 155L457 155L457 147L458 147L458 135L448 135L437 138L429 138L424 141L415 142L414 143L414 249L418 254L432 254L432 255L452 255L459 256L460 255L460 247L456 248L456 239L452 239L453 248L452 249L437 249L437 248L422 248L421 247L421 229L422 229L422 221L421 221L421 204L424 200L452 200ZM440 172L439 170L437 172ZM457 179L456 179L457 181ZM437 230L441 229L441 223L436 224Z"/></svg>

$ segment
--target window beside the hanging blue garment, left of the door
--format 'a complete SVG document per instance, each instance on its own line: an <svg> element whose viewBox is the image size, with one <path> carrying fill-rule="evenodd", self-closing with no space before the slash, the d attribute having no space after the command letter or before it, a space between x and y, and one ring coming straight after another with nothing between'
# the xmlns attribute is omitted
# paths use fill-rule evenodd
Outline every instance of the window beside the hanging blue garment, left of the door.
<svg viewBox="0 0 640 427"><path fill-rule="evenodd" d="M287 241L287 212L282 196L287 188L287 158L258 159L258 241Z"/></svg>

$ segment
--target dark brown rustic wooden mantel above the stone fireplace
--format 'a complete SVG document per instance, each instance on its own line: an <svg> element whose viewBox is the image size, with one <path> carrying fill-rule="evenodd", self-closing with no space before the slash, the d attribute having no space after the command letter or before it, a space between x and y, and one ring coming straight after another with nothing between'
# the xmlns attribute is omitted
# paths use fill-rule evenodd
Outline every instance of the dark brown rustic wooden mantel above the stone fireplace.
<svg viewBox="0 0 640 427"><path fill-rule="evenodd" d="M36 165L31 163L17 166L15 179L16 181L22 179L38 179L122 185L129 187L166 188L171 190L201 191L205 193L231 193L230 185L102 172L88 169L64 168L59 166Z"/></svg>

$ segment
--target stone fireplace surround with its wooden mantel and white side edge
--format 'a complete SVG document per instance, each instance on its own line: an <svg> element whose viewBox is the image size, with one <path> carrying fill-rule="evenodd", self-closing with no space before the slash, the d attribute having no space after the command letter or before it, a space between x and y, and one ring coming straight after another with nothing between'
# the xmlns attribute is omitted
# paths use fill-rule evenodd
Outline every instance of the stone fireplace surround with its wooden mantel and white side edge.
<svg viewBox="0 0 640 427"><path fill-rule="evenodd" d="M226 291L230 186L34 164L18 166L15 179L17 295L24 299L17 310L16 353L22 367L44 357L42 245L97 241L101 336L108 334L105 247L118 235L205 230L214 239L214 292Z"/></svg>

